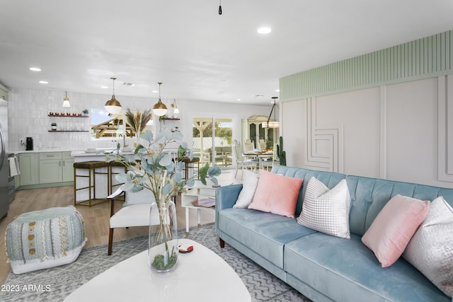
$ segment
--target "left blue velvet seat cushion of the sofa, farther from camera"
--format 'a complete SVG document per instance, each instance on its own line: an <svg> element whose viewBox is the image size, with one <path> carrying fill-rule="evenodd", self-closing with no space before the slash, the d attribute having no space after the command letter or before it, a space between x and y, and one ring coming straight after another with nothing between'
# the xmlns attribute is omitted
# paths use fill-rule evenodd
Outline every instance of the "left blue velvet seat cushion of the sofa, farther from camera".
<svg viewBox="0 0 453 302"><path fill-rule="evenodd" d="M283 247L316 231L296 219L253 209L224 209L216 221L223 233L235 238L275 266L283 269Z"/></svg>

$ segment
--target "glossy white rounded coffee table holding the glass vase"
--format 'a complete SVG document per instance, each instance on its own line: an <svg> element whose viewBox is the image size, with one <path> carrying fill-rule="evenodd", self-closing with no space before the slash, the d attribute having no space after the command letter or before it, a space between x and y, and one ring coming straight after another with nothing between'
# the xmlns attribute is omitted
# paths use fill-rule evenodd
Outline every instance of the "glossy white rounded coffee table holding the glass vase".
<svg viewBox="0 0 453 302"><path fill-rule="evenodd" d="M193 245L193 252L179 254L175 271L151 272L145 250L98 274L64 301L251 301L241 278L215 252L193 240L178 243Z"/></svg>

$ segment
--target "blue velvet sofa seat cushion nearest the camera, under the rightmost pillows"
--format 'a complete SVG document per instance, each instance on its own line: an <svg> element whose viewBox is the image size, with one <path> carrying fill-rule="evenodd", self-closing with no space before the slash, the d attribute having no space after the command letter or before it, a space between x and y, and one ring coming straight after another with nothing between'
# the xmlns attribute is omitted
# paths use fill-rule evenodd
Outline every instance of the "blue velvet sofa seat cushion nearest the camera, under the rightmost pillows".
<svg viewBox="0 0 453 302"><path fill-rule="evenodd" d="M285 270L334 301L451 301L402 258L382 268L353 234L345 240L313 233L287 243Z"/></svg>

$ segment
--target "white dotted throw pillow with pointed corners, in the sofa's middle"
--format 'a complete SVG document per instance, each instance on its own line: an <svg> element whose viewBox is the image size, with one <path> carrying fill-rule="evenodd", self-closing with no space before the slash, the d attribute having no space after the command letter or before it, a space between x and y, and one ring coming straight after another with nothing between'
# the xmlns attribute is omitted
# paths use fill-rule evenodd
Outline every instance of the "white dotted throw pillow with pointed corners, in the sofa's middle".
<svg viewBox="0 0 453 302"><path fill-rule="evenodd" d="M328 235L350 239L350 203L346 180L341 180L329 190L322 182L311 178L306 185L302 213L297 223Z"/></svg>

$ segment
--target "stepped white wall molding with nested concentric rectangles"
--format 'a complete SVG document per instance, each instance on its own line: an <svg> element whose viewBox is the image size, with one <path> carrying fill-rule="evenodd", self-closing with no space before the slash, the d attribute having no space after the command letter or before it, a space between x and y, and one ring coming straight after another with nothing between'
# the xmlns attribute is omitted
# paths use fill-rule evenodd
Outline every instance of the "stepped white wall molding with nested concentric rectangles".
<svg viewBox="0 0 453 302"><path fill-rule="evenodd" d="M306 100L306 166L343 173L343 126L318 127L316 98Z"/></svg>

